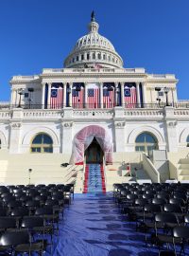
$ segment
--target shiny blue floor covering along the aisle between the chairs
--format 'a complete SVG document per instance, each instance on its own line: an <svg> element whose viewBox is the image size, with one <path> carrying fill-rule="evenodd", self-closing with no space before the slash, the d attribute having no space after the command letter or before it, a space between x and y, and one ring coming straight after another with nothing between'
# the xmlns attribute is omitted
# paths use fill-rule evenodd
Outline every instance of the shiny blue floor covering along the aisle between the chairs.
<svg viewBox="0 0 189 256"><path fill-rule="evenodd" d="M64 210L54 256L155 256L145 246L145 234L135 231L114 204L112 194L76 194ZM188 254L187 254L188 255Z"/></svg>

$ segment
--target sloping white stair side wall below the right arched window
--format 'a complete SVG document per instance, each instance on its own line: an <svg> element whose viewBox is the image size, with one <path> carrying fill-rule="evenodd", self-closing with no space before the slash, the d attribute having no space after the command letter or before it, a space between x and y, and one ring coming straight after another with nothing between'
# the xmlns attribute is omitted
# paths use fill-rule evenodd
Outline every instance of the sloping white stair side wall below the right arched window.
<svg viewBox="0 0 189 256"><path fill-rule="evenodd" d="M150 161L150 159L147 158L145 153L143 153L143 166L147 167L145 171L151 178L152 182L160 183L160 173L157 171L157 169L155 168L153 163Z"/></svg>

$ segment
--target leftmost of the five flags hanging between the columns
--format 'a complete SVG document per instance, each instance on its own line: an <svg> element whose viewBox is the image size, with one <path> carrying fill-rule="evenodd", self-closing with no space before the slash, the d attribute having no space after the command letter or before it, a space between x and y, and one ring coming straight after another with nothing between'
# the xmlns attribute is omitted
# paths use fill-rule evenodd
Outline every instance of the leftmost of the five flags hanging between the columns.
<svg viewBox="0 0 189 256"><path fill-rule="evenodd" d="M50 108L61 108L63 105L63 88L52 87L50 92Z"/></svg>

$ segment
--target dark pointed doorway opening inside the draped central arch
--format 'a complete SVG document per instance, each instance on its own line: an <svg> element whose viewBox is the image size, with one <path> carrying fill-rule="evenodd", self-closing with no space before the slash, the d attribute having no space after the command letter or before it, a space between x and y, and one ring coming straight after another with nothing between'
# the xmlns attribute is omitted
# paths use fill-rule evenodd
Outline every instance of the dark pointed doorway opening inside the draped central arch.
<svg viewBox="0 0 189 256"><path fill-rule="evenodd" d="M103 163L103 151L94 137L92 143L85 150L86 163Z"/></svg>

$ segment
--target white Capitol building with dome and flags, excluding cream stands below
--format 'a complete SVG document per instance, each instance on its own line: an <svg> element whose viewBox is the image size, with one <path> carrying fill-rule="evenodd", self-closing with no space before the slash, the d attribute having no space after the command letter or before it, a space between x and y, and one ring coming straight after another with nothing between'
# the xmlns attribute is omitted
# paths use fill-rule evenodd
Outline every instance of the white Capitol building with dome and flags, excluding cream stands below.
<svg viewBox="0 0 189 256"><path fill-rule="evenodd" d="M93 13L63 68L12 77L10 102L0 105L1 150L67 155L73 164L90 157L94 138L106 162L115 153L186 152L189 103L178 100L175 75L124 68L98 28Z"/></svg>

